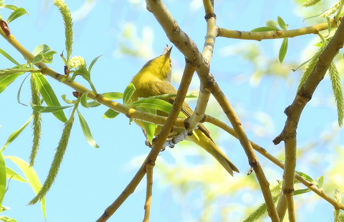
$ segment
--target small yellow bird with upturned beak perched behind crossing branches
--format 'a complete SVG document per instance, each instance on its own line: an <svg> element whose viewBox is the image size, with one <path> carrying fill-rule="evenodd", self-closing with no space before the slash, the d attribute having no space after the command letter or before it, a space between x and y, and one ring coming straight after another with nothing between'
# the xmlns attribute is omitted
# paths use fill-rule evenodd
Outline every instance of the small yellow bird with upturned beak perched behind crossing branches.
<svg viewBox="0 0 344 222"><path fill-rule="evenodd" d="M172 48L171 48L172 49ZM132 78L131 83L135 86L136 91L131 96L132 102L137 101L138 97L150 97L163 94L176 94L177 90L171 85L171 49L167 46L164 53L150 61L148 61L142 69ZM165 98L165 101L173 103L174 98ZM181 110L185 118L190 117L193 110L190 106L184 102ZM161 116L168 116L168 113L157 110L157 114ZM134 120L137 125L144 129L144 124L140 120ZM162 126L158 126L155 130L155 136L161 131ZM173 138L184 130L181 128L174 128L170 133L169 138ZM203 124L199 124L198 128L194 130L195 135L188 136L186 139L192 141L198 146L205 149L215 159L221 163L221 165L233 176L233 171L238 172L238 168L224 155L221 150L217 148L213 139L210 137L210 133Z"/></svg>

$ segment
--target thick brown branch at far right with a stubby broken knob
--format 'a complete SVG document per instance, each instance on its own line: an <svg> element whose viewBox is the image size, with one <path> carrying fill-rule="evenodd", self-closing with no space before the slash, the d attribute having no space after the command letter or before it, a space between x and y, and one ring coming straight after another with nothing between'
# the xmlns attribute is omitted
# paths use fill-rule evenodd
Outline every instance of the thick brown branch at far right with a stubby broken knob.
<svg viewBox="0 0 344 222"><path fill-rule="evenodd" d="M329 66L340 48L344 44L344 24L343 22L338 26L338 29L324 51L320 54L318 62L309 75L308 79L297 92L294 101L288 106L284 113L287 115L287 121L282 132L273 139L275 145L284 141L284 150L286 162L283 171L283 185L282 191L287 200L289 220L294 221L294 206L293 206L293 192L294 192L294 173L296 167L296 129L300 120L301 112L307 102L313 96L316 87L324 78L324 75L329 69Z"/></svg>

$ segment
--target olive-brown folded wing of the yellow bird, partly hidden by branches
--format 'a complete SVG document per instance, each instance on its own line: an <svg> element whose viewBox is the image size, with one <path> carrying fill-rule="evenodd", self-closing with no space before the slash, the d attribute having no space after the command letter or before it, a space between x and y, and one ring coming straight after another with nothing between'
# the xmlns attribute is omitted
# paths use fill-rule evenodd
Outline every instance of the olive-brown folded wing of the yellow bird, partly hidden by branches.
<svg viewBox="0 0 344 222"><path fill-rule="evenodd" d="M170 84L170 83L164 83L161 82L159 84L156 84L154 86L155 90L157 90L157 95L162 95L162 94L176 94L177 90ZM175 97L170 97L170 98L165 98L165 101L168 101L169 103L173 104ZM191 117L193 114L193 110L191 107L184 101L183 103L183 108L182 108L182 113L186 118ZM213 139L210 136L210 132L208 129L202 124L198 124L198 128L207 136L209 137L212 141Z"/></svg>

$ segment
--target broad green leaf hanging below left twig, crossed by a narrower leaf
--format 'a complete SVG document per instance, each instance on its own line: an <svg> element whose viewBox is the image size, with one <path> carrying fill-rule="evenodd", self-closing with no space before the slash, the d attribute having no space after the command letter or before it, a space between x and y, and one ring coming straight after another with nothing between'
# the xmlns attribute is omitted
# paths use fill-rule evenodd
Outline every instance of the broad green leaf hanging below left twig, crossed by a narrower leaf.
<svg viewBox="0 0 344 222"><path fill-rule="evenodd" d="M45 103L48 106L61 106L60 102L58 101L53 88L51 88L50 84L46 80L46 78L42 75L42 73L33 73L33 77L36 81L37 88L40 91ZM62 110L58 112L53 112L53 115L60 120L61 122L67 122L66 115Z"/></svg>

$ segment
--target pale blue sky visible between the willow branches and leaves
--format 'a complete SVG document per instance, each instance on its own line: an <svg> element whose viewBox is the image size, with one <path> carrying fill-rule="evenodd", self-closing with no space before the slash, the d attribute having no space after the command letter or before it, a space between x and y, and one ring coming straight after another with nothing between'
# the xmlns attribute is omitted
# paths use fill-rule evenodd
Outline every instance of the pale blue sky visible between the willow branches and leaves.
<svg viewBox="0 0 344 222"><path fill-rule="evenodd" d="M73 55L84 57L88 64L95 57L105 55L95 64L92 73L92 81L100 93L122 92L130 82L131 77L139 71L147 60L161 54L165 44L172 45L155 21L154 16L145 9L144 1L137 1L139 2L137 4L130 2L136 1L96 1L89 14L74 22ZM206 25L203 20L204 11L202 8L196 8L197 2L200 1L171 0L166 1L166 6L180 27L190 35L201 50ZM24 7L30 13L29 17L24 15L9 25L11 33L29 51L33 51L40 44L47 44L57 52L64 50L62 17L52 5L52 1L33 0L29 3L28 1L17 0L5 1L5 3ZM83 2L78 1L67 0L66 3L72 12L83 5ZM8 15L6 11L1 10L3 17ZM276 20L277 15L289 24L290 29L306 26L306 24L302 24L303 17L298 16L291 1L278 1L278 3L277 1L274 3L269 1L219 1L215 5L215 12L218 16L217 25L230 29L251 30L264 26L267 19ZM136 26L137 32L133 32L136 35L134 39L144 39L137 42L135 46L139 52L145 52L142 55L143 58L133 58L119 52L119 42L127 44L129 47L132 47L132 42L135 42L130 42L121 36L123 29L130 27L128 24L135 24ZM133 30L135 31L135 29ZM293 62L298 66L299 63L307 60L300 53L300 49L304 50L314 38L314 35L308 35L290 39L286 61ZM261 41L257 47L262 51L262 55L269 59L277 59L281 41L281 39ZM250 44L249 41L217 38L211 72L238 112L249 138L270 152L279 154L283 145L273 146L271 141L284 126L286 116L283 111L294 98L300 73L289 71L290 77L288 78L262 77L258 85L253 84L252 73L254 70L252 64L233 53L235 50L251 46ZM24 63L21 55L3 39L0 40L0 48L10 53L17 61ZM180 77L184 57L176 48L172 50L171 57L175 70L174 80L176 80ZM269 64L269 61L266 61L265 65ZM12 64L9 61L0 58L0 69L10 66ZM282 66L283 64L277 68L282 69ZM58 56L54 57L54 63L51 67L63 73L63 62ZM0 94L0 144L4 144L7 137L31 115L30 107L24 107L17 103L17 92L23 79L24 76L19 77ZM87 85L81 78L76 80ZM48 79L48 81L58 98L66 94L67 98L72 99L72 89L53 81L53 79ZM191 88L197 89L196 77L193 79L193 83L195 85ZM178 82L175 86L178 87ZM333 136L333 143L343 144L341 139L343 132L337 130L336 110L333 102L331 102L333 96L328 78L321 82L316 93L318 94L314 95L301 116L298 127L299 145L307 146L311 138L322 138L327 135L326 132L332 135L334 135L332 132L336 132L338 135ZM28 104L26 101L30 98L29 81L26 79L21 92L21 101ZM193 107L194 103L192 101L190 103ZM59 174L46 196L48 222L95 221L126 187L139 168L142 158L149 152L149 149L144 146L144 136L139 127L129 125L128 119L124 115L119 115L114 120L103 119L102 116L106 110L107 108L102 106L89 110L80 109L100 148L95 149L87 144L76 119ZM65 113L69 116L71 112L66 110ZM43 137L34 169L43 183L55 152L54 149L60 139L63 123L55 119L50 113L44 113L42 116ZM31 151L31 135L30 128L26 128L7 147L4 155L17 156L28 161ZM226 153L234 160L240 171L243 172L242 174L245 174L249 169L247 158L238 141L233 139L221 139L219 141L221 141L219 143L221 146L230 147ZM313 178L324 174L323 166L331 164L329 158L333 157L331 144L319 144L313 147L316 154L313 153L314 156L305 157L305 161L298 165L300 169L305 170ZM173 152L174 150L164 152L161 158L173 160ZM320 165L312 165L312 158L320 158L325 154L329 156L323 158ZM141 157L141 159L138 160L136 157ZM272 166L261 156L258 157L263 164ZM14 165L10 165L10 162L7 163L12 169L19 171ZM271 183L281 179L280 170L269 172L272 172L267 175ZM235 177L232 180L235 180ZM146 194L144 184L143 179L143 183L139 185L135 193L125 201L109 221L142 220ZM332 193L329 195L332 196ZM9 192L3 203L11 210L4 212L4 215L15 218L18 222L44 221L39 204L26 206L33 197L34 193L28 184L11 181ZM319 200L319 198L316 199ZM258 203L261 201L262 199ZM325 201L320 201L316 205L315 212L313 206L307 205L306 207L310 213L307 215L299 213L300 221L308 221L309 215L324 217L322 218L324 221L332 220L332 206ZM152 220L162 222L186 221L180 215L181 211L182 206L172 194L171 188L160 182L154 183ZM192 221L192 219L188 221Z"/></svg>

